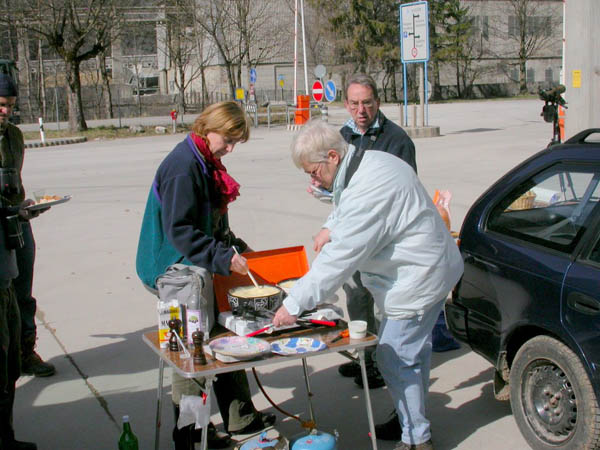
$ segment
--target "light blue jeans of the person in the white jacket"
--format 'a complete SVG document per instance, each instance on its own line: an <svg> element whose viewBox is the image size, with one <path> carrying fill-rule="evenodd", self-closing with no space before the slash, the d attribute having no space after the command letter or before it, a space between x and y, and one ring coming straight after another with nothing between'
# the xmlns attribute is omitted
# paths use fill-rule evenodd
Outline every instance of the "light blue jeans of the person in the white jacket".
<svg viewBox="0 0 600 450"><path fill-rule="evenodd" d="M377 367L398 412L402 441L407 444L422 444L431 439L429 421L425 417L431 330L443 306L442 299L422 316L401 320L384 318L379 328Z"/></svg>

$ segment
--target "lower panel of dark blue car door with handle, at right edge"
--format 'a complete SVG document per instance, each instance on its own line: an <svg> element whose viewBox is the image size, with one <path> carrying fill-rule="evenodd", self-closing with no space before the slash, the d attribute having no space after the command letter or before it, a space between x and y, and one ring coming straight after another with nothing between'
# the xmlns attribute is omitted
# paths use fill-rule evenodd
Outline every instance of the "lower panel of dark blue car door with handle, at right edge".
<svg viewBox="0 0 600 450"><path fill-rule="evenodd" d="M590 245L565 276L562 321L600 397L600 226L589 234Z"/></svg>

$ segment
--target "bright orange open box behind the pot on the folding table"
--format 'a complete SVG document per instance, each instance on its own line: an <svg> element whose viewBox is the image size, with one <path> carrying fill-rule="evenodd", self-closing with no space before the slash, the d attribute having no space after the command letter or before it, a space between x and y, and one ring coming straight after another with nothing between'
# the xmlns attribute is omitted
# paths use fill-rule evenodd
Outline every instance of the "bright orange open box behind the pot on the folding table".
<svg viewBox="0 0 600 450"><path fill-rule="evenodd" d="M300 278L308 272L309 268L304 246L244 253L243 256L248 260L248 267L258 284L277 284L288 278ZM252 281L246 275L215 274L215 297L219 312L231 310L227 301L227 292L231 288L250 285L252 285Z"/></svg>

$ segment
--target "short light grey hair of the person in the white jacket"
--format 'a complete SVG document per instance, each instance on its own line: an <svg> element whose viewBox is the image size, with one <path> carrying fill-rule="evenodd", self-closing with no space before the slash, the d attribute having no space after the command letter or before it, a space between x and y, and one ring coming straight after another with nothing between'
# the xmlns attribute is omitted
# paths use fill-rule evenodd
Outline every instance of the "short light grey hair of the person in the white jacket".
<svg viewBox="0 0 600 450"><path fill-rule="evenodd" d="M348 151L348 144L337 129L320 119L313 119L294 136L291 149L292 160L301 169L303 163L327 161L329 150L334 150L343 159Z"/></svg>

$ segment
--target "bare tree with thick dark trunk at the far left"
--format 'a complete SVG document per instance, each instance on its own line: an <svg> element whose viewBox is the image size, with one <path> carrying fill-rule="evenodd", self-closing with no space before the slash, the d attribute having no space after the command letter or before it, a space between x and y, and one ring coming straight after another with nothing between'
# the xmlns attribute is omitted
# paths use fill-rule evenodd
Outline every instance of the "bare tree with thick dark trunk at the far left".
<svg viewBox="0 0 600 450"><path fill-rule="evenodd" d="M126 0L118 6L125 7ZM68 85L69 129L87 129L81 96L81 64L110 45L120 23L116 0L19 0L0 22L14 21L44 39L64 61Z"/></svg>

